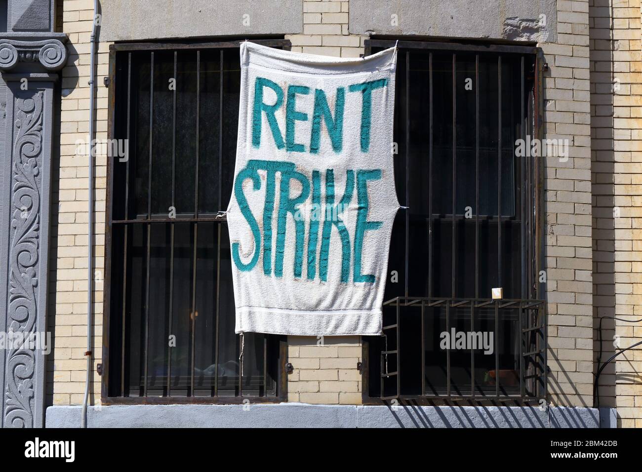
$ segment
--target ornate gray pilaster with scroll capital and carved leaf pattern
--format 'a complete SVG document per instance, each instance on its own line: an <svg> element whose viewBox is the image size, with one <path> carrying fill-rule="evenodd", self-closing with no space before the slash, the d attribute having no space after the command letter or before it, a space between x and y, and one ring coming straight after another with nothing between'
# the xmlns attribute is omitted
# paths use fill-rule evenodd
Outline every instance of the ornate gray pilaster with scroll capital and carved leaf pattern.
<svg viewBox="0 0 642 472"><path fill-rule="evenodd" d="M52 135L64 33L53 0L10 0L0 33L0 424L44 425ZM26 340L26 342L25 342ZM8 343L6 343L8 344Z"/></svg>

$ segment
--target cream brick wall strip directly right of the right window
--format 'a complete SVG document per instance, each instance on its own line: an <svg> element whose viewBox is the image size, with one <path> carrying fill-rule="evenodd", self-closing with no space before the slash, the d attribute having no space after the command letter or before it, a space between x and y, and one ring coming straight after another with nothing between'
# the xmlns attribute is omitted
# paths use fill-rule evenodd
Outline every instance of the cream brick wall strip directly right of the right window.
<svg viewBox="0 0 642 472"><path fill-rule="evenodd" d="M589 1L557 2L557 42L539 44L544 132L568 139L568 159L546 157L548 392L553 405L593 406Z"/></svg>

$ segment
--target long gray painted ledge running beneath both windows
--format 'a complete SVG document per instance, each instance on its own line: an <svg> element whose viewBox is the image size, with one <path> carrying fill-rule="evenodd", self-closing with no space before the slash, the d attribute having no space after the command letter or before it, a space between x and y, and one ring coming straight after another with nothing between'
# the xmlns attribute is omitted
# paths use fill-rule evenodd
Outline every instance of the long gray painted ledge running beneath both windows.
<svg viewBox="0 0 642 472"><path fill-rule="evenodd" d="M603 428L615 410L537 406L114 405L91 406L90 428ZM80 406L49 406L48 428L80 425Z"/></svg>

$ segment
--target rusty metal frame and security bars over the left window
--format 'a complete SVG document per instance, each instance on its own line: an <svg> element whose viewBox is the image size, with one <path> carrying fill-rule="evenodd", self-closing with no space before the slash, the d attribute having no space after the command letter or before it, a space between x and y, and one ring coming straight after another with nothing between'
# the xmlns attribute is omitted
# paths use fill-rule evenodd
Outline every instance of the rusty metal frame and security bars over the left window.
<svg viewBox="0 0 642 472"><path fill-rule="evenodd" d="M260 367L262 371L262 376L263 376L263 383L261 384L261 387L259 387L259 393L254 394L254 395L247 395L244 394L243 391L243 383L245 378L247 378L247 375L245 375L245 372L241 372L239 375L238 372L236 374L236 377L238 377L238 385L234 387L234 396L220 396L219 395L219 389L217 388L219 385L219 375L218 375L218 367L216 369L216 373L214 374L214 385L211 387L211 392L209 395L203 395L201 392L201 395L196 395L196 390L195 390L195 317L190 315L190 336L191 336L191 361L189 362L189 368L191 369L191 375L189 379L189 385L187 385L186 389L184 389L184 392L187 392L186 394L180 393L179 396L172 396L172 385L171 385L171 349L168 349L167 352L167 366L166 366L166 387L162 391L162 396L158 396L158 392L154 392L153 394L150 394L148 392L148 378L149 378L149 373L147 372L148 369L148 345L141 346L141 356L144 356L144 378L143 378L143 391L139 396L129 396L130 392L126 390L130 390L130 388L126 388L125 385L125 359L126 359L126 354L125 353L125 337L126 333L124 329L120 329L121 327L125 326L124 320L126 317L126 309L125 309L125 299L126 299L126 290L127 290L127 282L126 282L126 276L127 276L127 255L126 255L126 249L128 247L128 242L127 242L127 237L128 234L130 233L130 227L133 227L134 225L144 225L146 227L146 238L147 238L147 257L146 257L146 294L143 296L146 297L146 302L145 302L145 310L146 312L144 313L144 323L145 323L145 334L144 334L144 343L148 343L149 340L149 324L150 324L150 313L149 313L149 307L150 307L150 296L153 296L153 293L150 293L150 230L152 225L154 227L157 227L158 225L169 225L170 231L171 231L171 248L168 247L168 250L171 252L170 256L170 267L173 267L173 261L174 261L174 256L173 256L173 249L174 249L174 230L176 225L190 225L191 227L191 232L193 233L193 238L194 240L192 241L193 245L193 258L191 259L191 266L192 266L192 280L191 280L191 313L195 313L195 290L196 290L196 282L195 282L195 277L196 277L196 249L197 249L197 234L198 234L198 224L199 223L209 223L214 225L214 232L218 231L218 234L221 234L222 231L226 231L225 228L223 228L223 225L226 224L226 218L225 215L221 214L212 214L207 213L207 214L202 214L199 215L199 206L198 206L198 162L203 159L202 156L198 156L198 149L199 149L199 137L198 137L198 119L200 116L200 94L199 94L199 87L200 87L200 58L201 58L201 52L202 51L220 51L220 109L218 110L219 112L219 141L218 141L218 146L219 146L219 156L222 157L223 152L221 149L222 146L222 116L224 113L223 110L223 51L229 50L229 49L235 49L239 47L239 44L241 44L243 40L225 40L225 41L220 41L220 42L173 42L173 43L157 43L157 42L145 42L145 43L123 43L123 44L113 44L110 46L110 51L109 51L109 74L108 74L108 82L106 80L105 85L108 85L108 139L116 139L116 138L129 138L130 137L130 117L132 116L131 113L131 107L132 105L135 105L134 103L131 103L132 101L132 95L131 95L131 90L132 90L132 58L134 58L133 54L149 54L150 55L150 64L151 64L151 69L150 69L150 109L153 107L153 60L154 60L154 54L158 53L160 51L173 51L174 52L174 76L176 77L176 71L177 71L177 54L178 51L193 51L196 55L196 130L195 130L195 142L196 142L196 165L195 165L195 195L194 195L194 214L192 218L162 218L159 215L154 215L152 214L152 209L148 206L148 211L147 211L147 216L144 219L137 218L138 215L134 215L133 217L130 217L129 211L130 211L130 195L132 194L132 189L135 191L135 186L134 183L132 182L132 175L130 175L130 159L126 159L126 162L121 163L117 162L117 157L108 157L107 159L107 205L106 205L106 232L105 232L105 277L104 277L104 290L103 290L103 306L104 306L104 316L103 316L103 368L102 368L102 379L101 379L101 400L105 404L128 404L128 403L247 403L248 401L250 402L268 402L268 403L277 403L286 400L287 398L287 378L286 378L286 372L285 372L285 365L287 363L287 347L286 347L286 340L284 337L280 336L275 336L275 335L265 335L263 338L263 365L262 366L257 366ZM263 44L265 46L270 46L274 48L282 48L286 50L290 50L291 44L289 40L285 39L252 39L253 42L257 42L259 44ZM215 54L215 53L214 53ZM238 55L238 54L237 54ZM117 76L117 63L123 64L125 62L126 66L126 77L123 78L122 76ZM124 89L126 92L123 92L123 85L119 85L119 96L116 96L117 93L117 81L121 81L121 83L125 83ZM177 98L177 88L175 87L173 91L173 123L171 124L172 132L173 132L173 148L171 151L171 159L172 159L172 189L171 189L171 195L172 195L172 204L174 203L174 193L175 193L175 184L177 182L176 180L176 175L175 175L175 166L176 166L176 98ZM117 114L117 105L120 107L126 107L126 112L124 113L126 116L126 126L123 127L123 123L120 123L119 120L123 121L123 110L120 110L120 116ZM125 132L123 132L123 128L125 128ZM148 178L149 182L151 184L152 182L152 168L153 168L153 150L152 150L152 138L151 134L153 132L153 114L150 111L150 152L149 152L149 161L150 161L150 167L148 168ZM234 144L236 145L236 140L234 140ZM126 150L127 155L130 153L130 150ZM231 158L231 162L229 162L229 165L234 166L234 155ZM219 175L219 181L222 178L223 175L223 164L222 164L223 159L218 159L218 175ZM119 166L118 170L116 170L116 166ZM120 191L124 195L124 202L123 202L123 208L124 208L124 218L119 219L119 220L114 220L114 182L115 182L115 172L116 171L123 171L125 173L124 177L124 182L125 182L125 189L117 189L117 191ZM133 171L132 171L133 172ZM121 183L121 182L118 182ZM151 194L151 185L148 186L146 189L148 195L147 195L147 201L148 205L151 205L151 200L152 200L152 194ZM221 185L218 186L218 202L220 204L221 202ZM121 212L122 213L122 212ZM116 242L114 240L114 230L118 229L119 227L123 228L122 235L124 238L124 241L122 241L122 247L125 249L125 254L121 256L121 254L114 254L113 247L114 243ZM218 228L218 230L216 229ZM120 241L118 241L120 244ZM216 276L216 286L217 286L217 292L218 292L218 286L220 285L220 278L218 275L220 274L220 251L221 251L221 240L220 238L216 239L215 243L216 247L218 249L216 252L218 255L216 256L216 261L214 261L215 266L217 267L217 276ZM122 257L123 258L123 263L122 265L122 274L114 274L112 273L112 268L114 267L114 261L112 258L114 257ZM174 279L174 272L173 268L170 268L170 275L169 275L169 333L171 333L171 313L173 311L173 305L171 302L171 292L172 292L172 286L173 286L173 279ZM153 290L152 290L153 292ZM116 295L116 296L114 296ZM114 301L120 301L121 303L114 303ZM215 365L218 366L218 340L219 340L219 334L220 331L218 329L219 322L220 322L220 310L219 310L219 302L220 299L218 296L216 297L216 311L214 313L215 316L215 326L216 326L216 340L214 342L214 346L216 349L216 358L213 359L213 362ZM234 313L231 313L231 316L234 316ZM233 320L232 320L233 324ZM119 332L114 332L114 329L119 328ZM110 338L113 337L118 337L120 346L119 349L110 349L114 345L116 345L114 342L110 341ZM239 349L239 337L236 336L236 342L237 342L237 351ZM269 345L269 347L268 347ZM110 352L112 351L112 352ZM113 351L116 351L114 353ZM238 353L237 353L238 355ZM118 362L116 362L116 360ZM111 362L110 362L111 361ZM242 365L242 364L241 364ZM269 380L269 385L271 385L268 388L268 368L270 369L272 374L272 380ZM114 372L117 372L118 375L115 375ZM110 379L112 380L118 380L110 382ZM110 385L111 384L111 385ZM116 384L116 385L114 385ZM130 386L131 387L131 386Z"/></svg>

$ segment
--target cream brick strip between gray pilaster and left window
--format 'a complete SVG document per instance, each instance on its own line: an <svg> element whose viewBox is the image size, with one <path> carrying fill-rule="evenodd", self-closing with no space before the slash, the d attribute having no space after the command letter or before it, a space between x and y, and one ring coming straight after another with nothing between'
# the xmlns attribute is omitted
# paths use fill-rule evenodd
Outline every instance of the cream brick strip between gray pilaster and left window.
<svg viewBox="0 0 642 472"><path fill-rule="evenodd" d="M48 381L53 405L78 405L85 391L84 356L87 344L87 232L89 205L89 159L76 155L76 141L87 140L89 132L89 51L92 29L93 2L67 0L63 3L62 27L69 35L69 60L62 70L62 101L60 111L60 159L55 162L58 182L52 196L52 243L56 245L56 260L52 261L53 305L49 325L55 326L55 348L49 359L53 376ZM103 76L108 70L109 45L101 43L96 57L98 87L96 89L96 139L107 138L107 87ZM94 175L95 205L94 270L94 345L93 365L101 362L103 284L105 254L105 189L107 160L96 157ZM53 365L52 365L53 364ZM100 377L94 373L91 403L100 403Z"/></svg>

